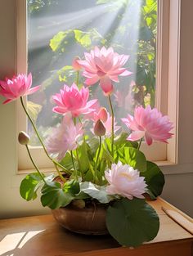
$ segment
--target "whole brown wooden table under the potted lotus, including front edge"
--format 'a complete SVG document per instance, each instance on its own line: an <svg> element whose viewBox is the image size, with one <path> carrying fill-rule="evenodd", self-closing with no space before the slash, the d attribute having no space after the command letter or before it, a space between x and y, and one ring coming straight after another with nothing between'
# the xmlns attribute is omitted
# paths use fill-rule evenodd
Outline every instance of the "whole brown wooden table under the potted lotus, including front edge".
<svg viewBox="0 0 193 256"><path fill-rule="evenodd" d="M52 215L0 220L3 256L191 256L193 236L164 213L176 209L162 199L148 202L160 219L158 236L137 249L120 247L110 236L83 236L65 231ZM176 209L177 210L177 209ZM179 210L177 210L179 211ZM179 211L180 212L180 211ZM184 214L184 213L182 213ZM186 214L184 214L186 218ZM191 219L191 218L190 218Z"/></svg>

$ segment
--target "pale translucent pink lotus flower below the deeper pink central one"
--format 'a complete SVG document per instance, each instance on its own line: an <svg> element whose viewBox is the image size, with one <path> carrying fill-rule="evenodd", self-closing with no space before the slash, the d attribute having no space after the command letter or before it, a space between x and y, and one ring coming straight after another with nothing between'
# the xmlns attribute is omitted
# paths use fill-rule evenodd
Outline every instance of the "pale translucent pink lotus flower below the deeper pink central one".
<svg viewBox="0 0 193 256"><path fill-rule="evenodd" d="M57 155L57 159L60 161L65 157L68 150L77 148L77 141L82 135L82 125L74 125L71 115L66 114L60 126L53 128L52 136L47 139L47 151L50 154Z"/></svg>

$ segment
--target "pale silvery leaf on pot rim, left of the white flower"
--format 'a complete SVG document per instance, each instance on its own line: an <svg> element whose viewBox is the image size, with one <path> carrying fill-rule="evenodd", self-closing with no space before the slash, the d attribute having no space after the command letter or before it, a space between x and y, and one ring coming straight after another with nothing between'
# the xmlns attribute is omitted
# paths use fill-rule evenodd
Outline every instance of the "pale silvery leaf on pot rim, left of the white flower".
<svg viewBox="0 0 193 256"><path fill-rule="evenodd" d="M80 183L80 191L90 195L102 204L107 204L113 199L112 196L108 195L105 191L105 186L97 186L92 182Z"/></svg>

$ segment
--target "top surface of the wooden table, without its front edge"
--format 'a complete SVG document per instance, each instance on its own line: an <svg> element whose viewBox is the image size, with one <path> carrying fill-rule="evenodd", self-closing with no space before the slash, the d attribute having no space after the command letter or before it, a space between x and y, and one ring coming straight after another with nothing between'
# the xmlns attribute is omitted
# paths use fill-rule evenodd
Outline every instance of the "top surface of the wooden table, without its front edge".
<svg viewBox="0 0 193 256"><path fill-rule="evenodd" d="M160 198L148 201L148 203L159 214L160 228L154 240L142 245L144 248L163 242L167 244L173 241L193 240L191 233L168 218L162 206L182 213L181 211ZM185 213L182 214L192 221ZM104 251L104 249L116 251L119 248L117 242L110 236L83 236L66 231L59 226L52 215L0 220L0 255L4 256L74 256Z"/></svg>

